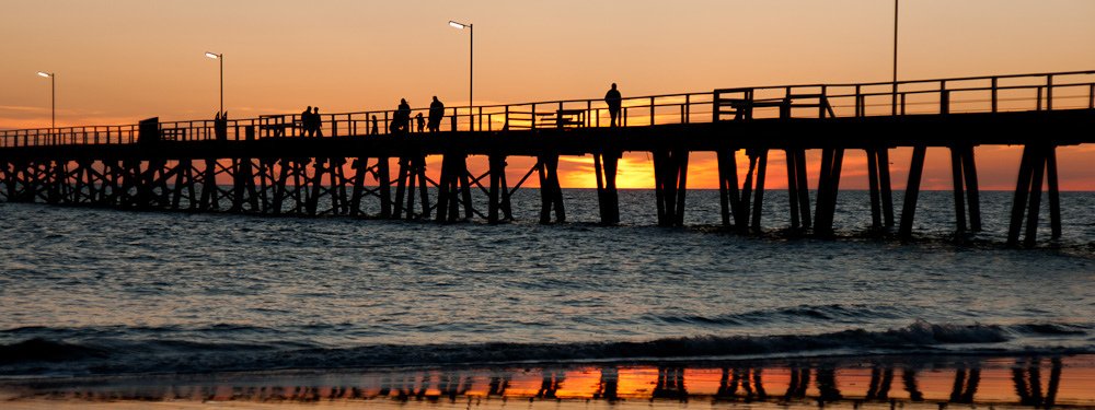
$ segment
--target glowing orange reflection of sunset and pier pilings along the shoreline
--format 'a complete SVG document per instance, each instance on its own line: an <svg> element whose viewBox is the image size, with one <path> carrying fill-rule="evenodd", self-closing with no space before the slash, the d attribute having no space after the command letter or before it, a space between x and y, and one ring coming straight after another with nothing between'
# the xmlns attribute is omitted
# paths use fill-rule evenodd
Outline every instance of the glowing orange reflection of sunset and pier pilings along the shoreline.
<svg viewBox="0 0 1095 410"><path fill-rule="evenodd" d="M733 363L725 366L606 365L523 370L152 376L104 383L8 382L0 399L319 402L482 402L495 399L1095 406L1095 358L907 362ZM902 359L902 358L899 358ZM1071 371L1074 368L1074 371ZM1070 370L1065 372L1065 370ZM1048 377L1046 375L1048 374ZM232 380L232 382L218 382Z"/></svg>

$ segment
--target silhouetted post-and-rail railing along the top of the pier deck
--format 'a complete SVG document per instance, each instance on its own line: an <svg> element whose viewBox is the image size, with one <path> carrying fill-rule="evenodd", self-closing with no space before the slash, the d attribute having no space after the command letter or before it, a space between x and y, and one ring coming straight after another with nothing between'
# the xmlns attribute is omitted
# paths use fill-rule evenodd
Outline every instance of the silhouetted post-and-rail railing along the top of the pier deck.
<svg viewBox="0 0 1095 410"><path fill-rule="evenodd" d="M1095 109L1095 70L1036 74L967 77L852 84L796 84L721 89L626 97L618 126L649 127L773 118L848 118L949 115L1053 109ZM410 133L417 133L411 113ZM394 110L321 115L314 137L388 134ZM441 131L520 131L609 127L601 98L562 99L446 108ZM218 131L214 119L159 124L159 138L174 141L251 140L309 137L300 114L229 119ZM0 148L129 144L138 125L37 128L0 131Z"/></svg>

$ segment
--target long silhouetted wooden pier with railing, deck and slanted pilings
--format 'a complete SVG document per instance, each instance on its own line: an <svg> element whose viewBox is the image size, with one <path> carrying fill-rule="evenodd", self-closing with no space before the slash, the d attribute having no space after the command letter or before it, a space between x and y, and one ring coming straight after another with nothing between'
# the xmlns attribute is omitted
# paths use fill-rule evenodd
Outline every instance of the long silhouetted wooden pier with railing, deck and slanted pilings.
<svg viewBox="0 0 1095 410"><path fill-rule="evenodd" d="M1044 181L1051 232L1061 235L1056 149L1095 143L1095 71L739 87L632 97L623 105L620 127L609 127L602 101L574 99L448 108L447 127L435 133L389 133L392 112L325 114L323 138L304 137L299 115L0 131L0 200L496 223L514 218L512 195L535 174L540 222L551 223L566 220L560 157L591 155L600 219L614 224L621 221L619 160L647 152L658 223L678 226L688 203L689 155L712 152L721 222L748 233L763 227L768 167L780 166L768 159L779 150L786 154L786 227L827 236L834 231L844 154L863 150L871 198L864 218L908 238L927 148L950 152L955 232L965 234L982 227L973 148L1006 144L1024 147L1008 243L1034 246ZM895 148L913 152L900 214L889 169ZM821 153L814 198L810 150ZM748 161L744 175L739 151ZM434 155L442 157L437 180L426 173ZM485 173L471 173L469 156L485 157ZM507 159L517 156L533 157L534 165L510 181ZM474 206L482 202L486 209Z"/></svg>

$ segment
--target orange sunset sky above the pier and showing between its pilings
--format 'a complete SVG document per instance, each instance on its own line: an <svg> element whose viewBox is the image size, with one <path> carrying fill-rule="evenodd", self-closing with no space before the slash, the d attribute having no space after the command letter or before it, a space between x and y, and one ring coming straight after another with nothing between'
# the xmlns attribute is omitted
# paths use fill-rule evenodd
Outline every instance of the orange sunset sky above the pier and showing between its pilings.
<svg viewBox="0 0 1095 410"><path fill-rule="evenodd" d="M138 1L4 0L0 129L209 118L222 52L233 118L414 107L431 95L468 102L468 32L475 25L479 105L590 98L612 82L625 96L789 83L888 81L894 2L770 1ZM901 1L899 78L1095 69L1095 1ZM986 189L1012 189L1017 148L978 149ZM929 152L925 185L949 188L946 151ZM842 187L866 186L850 153ZM1064 189L1095 190L1095 148L1062 149ZM908 150L891 154L903 186ZM591 186L589 159L564 159L563 184ZM511 164L523 164L523 160ZM773 155L770 188L785 185ZM645 154L621 164L623 187L650 187ZM817 167L816 157L811 167ZM715 187L713 159L690 168ZM514 171L522 173L522 171ZM782 180L781 180L782 178Z"/></svg>

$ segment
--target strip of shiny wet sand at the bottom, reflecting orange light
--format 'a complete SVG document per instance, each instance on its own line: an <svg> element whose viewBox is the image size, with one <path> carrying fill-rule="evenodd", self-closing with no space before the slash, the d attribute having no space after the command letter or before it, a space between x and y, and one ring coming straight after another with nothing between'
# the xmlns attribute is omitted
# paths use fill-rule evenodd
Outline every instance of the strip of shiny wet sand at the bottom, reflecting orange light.
<svg viewBox="0 0 1095 410"><path fill-rule="evenodd" d="M0 380L45 408L1095 408L1095 355L515 364Z"/></svg>

